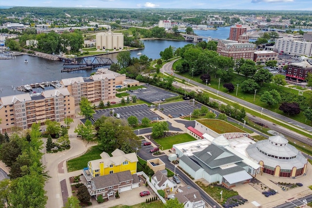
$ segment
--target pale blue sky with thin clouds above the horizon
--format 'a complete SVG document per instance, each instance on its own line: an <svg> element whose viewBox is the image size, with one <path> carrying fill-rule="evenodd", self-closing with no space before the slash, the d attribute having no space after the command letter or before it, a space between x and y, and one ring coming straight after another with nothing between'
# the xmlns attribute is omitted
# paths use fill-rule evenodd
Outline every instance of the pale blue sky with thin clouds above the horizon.
<svg viewBox="0 0 312 208"><path fill-rule="evenodd" d="M0 6L312 11L312 0L0 0Z"/></svg>

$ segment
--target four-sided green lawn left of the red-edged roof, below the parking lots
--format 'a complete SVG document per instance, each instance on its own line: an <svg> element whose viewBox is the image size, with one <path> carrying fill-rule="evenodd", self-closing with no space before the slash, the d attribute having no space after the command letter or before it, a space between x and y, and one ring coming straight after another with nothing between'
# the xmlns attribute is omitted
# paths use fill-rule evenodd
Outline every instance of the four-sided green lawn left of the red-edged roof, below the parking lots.
<svg viewBox="0 0 312 208"><path fill-rule="evenodd" d="M184 143L184 142L190 142L190 141L195 141L196 139L187 134L187 133L183 133L183 134L178 134L175 136L168 136L168 137L164 137L164 138L160 138L160 139L155 139L155 141L161 145L160 149L161 150L168 150L170 148L172 148L172 146L174 144L179 144L179 143Z"/></svg>

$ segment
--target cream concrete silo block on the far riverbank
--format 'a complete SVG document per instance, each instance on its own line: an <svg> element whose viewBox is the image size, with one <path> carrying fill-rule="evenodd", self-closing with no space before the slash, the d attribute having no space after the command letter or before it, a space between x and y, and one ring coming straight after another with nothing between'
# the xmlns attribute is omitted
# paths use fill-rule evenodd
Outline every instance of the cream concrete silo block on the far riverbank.
<svg viewBox="0 0 312 208"><path fill-rule="evenodd" d="M96 35L97 49L123 49L123 34L108 32L98 33Z"/></svg>

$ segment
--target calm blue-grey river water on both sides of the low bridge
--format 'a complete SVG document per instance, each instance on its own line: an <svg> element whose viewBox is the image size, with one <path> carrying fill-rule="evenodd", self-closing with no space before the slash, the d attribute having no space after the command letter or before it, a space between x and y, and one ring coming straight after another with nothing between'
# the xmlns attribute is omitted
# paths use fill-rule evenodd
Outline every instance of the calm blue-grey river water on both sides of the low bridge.
<svg viewBox="0 0 312 208"><path fill-rule="evenodd" d="M190 43L187 41L175 41L175 40L143 40L145 48L131 51L132 57L139 57L137 53L142 53L149 58L159 58L159 53L165 48L169 47L183 47ZM3 54L0 54L3 56ZM109 57L114 62L117 62L117 53L102 55L100 57ZM28 63L24 60L27 59ZM8 95L17 95L23 92L18 90L14 91L14 88L25 85L35 84L46 81L56 81L62 78L71 78L76 76L88 77L94 70L79 70L73 72L63 72L62 61L52 61L39 57L32 57L28 55L16 56L13 59L0 59L0 97ZM45 90L47 90L46 88ZM52 89L52 88L51 88ZM37 93L42 92L43 89L34 89Z"/></svg>

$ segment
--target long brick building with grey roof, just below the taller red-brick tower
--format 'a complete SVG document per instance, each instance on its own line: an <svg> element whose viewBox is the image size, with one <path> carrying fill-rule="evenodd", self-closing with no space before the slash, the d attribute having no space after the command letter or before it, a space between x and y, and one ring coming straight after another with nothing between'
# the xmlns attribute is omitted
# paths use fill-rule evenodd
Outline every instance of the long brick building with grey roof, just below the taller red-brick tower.
<svg viewBox="0 0 312 208"><path fill-rule="evenodd" d="M238 42L233 40L219 40L217 53L225 57L233 57L234 60L239 58L254 59L254 43Z"/></svg>

